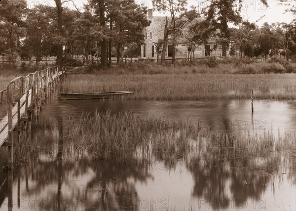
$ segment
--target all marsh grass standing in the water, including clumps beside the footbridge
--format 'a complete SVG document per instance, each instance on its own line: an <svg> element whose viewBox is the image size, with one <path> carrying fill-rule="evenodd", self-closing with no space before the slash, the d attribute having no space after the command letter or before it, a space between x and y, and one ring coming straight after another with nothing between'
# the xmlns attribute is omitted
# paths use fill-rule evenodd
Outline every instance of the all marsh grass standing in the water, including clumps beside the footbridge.
<svg viewBox="0 0 296 211"><path fill-rule="evenodd" d="M40 129L40 121L44 120L38 121L35 124ZM56 122L44 123L42 127L48 129L51 135L56 134L56 140L62 142L55 144L52 138L46 138L41 133L33 141L16 143L16 165L26 164L30 157L40 152L54 160L57 148L62 145L67 165L80 161L108 161L117 166L134 165L134 162L149 166L153 161L160 160L167 169L171 169L180 160L193 166L203 159L206 162L214 161L221 168L230 166L273 173L281 166L283 157L290 162L288 165L293 164L291 158L296 153L293 132L250 135L235 129L201 128L189 121L171 121L150 115L143 117L129 112L114 115L111 111L92 115L82 113L81 117L63 124L63 132L57 128ZM1 149L0 155L1 165L5 166L7 154L4 149ZM263 164L254 166L254 162L251 162L254 159L260 159Z"/></svg>

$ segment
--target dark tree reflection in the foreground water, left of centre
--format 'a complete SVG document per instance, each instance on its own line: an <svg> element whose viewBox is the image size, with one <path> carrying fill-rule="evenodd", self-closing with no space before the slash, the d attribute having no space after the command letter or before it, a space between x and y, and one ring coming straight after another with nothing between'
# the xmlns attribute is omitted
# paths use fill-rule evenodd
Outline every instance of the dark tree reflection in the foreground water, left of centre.
<svg viewBox="0 0 296 211"><path fill-rule="evenodd" d="M141 161L127 160L121 165L104 162L94 167L96 177L87 183L86 195L94 189L100 191L98 199L88 201L86 210L139 210L134 181L145 182L149 174L148 165Z"/></svg>

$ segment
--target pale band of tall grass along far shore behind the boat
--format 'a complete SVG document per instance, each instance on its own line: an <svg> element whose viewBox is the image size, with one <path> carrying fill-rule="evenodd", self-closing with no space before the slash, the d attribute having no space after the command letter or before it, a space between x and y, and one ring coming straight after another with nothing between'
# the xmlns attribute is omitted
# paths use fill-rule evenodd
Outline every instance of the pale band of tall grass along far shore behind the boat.
<svg viewBox="0 0 296 211"><path fill-rule="evenodd" d="M64 92L132 90L137 100L296 99L295 74L77 74L68 75Z"/></svg>

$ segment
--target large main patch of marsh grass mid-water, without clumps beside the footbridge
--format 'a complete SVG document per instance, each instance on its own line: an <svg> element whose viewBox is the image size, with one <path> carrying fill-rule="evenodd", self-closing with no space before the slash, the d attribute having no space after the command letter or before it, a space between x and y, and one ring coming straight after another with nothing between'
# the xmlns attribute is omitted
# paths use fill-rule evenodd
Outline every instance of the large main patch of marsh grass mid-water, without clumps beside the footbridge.
<svg viewBox="0 0 296 211"><path fill-rule="evenodd" d="M87 156L118 163L135 157L156 158L168 166L174 166L178 159L190 162L196 156L217 155L235 166L246 167L246 161L251 158L272 158L278 153L296 151L292 133L275 136L267 132L252 136L234 130L199 128L189 122L160 117L141 119L132 113L111 115L110 111L95 112L93 116L84 114L73 121L65 143L74 154L87 152ZM276 159L269 162L272 164Z"/></svg>

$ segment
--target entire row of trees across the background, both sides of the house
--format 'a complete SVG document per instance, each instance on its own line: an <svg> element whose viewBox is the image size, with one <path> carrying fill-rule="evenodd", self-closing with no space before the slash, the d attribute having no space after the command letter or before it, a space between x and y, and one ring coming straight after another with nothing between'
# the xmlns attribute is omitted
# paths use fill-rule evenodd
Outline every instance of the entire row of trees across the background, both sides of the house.
<svg viewBox="0 0 296 211"><path fill-rule="evenodd" d="M143 30L150 24L147 7L134 0L88 0L83 11L64 6L72 0L54 0L55 6L27 7L26 0L2 0L0 3L0 55L11 65L16 58L33 57L39 61L55 56L57 64L83 58L83 62L100 59L103 68L111 65L111 57L140 55ZM267 57L296 56L296 19L292 23L265 23L258 27L241 17L236 0L210 0L201 11L187 9L187 0L152 0L153 8L166 12L163 37L155 50L164 59L167 43L173 45L173 62L180 37L194 50L196 43L215 40L222 56ZM266 0L261 0L267 6ZM296 8L287 7L292 15ZM232 23L236 28L229 28Z"/></svg>

